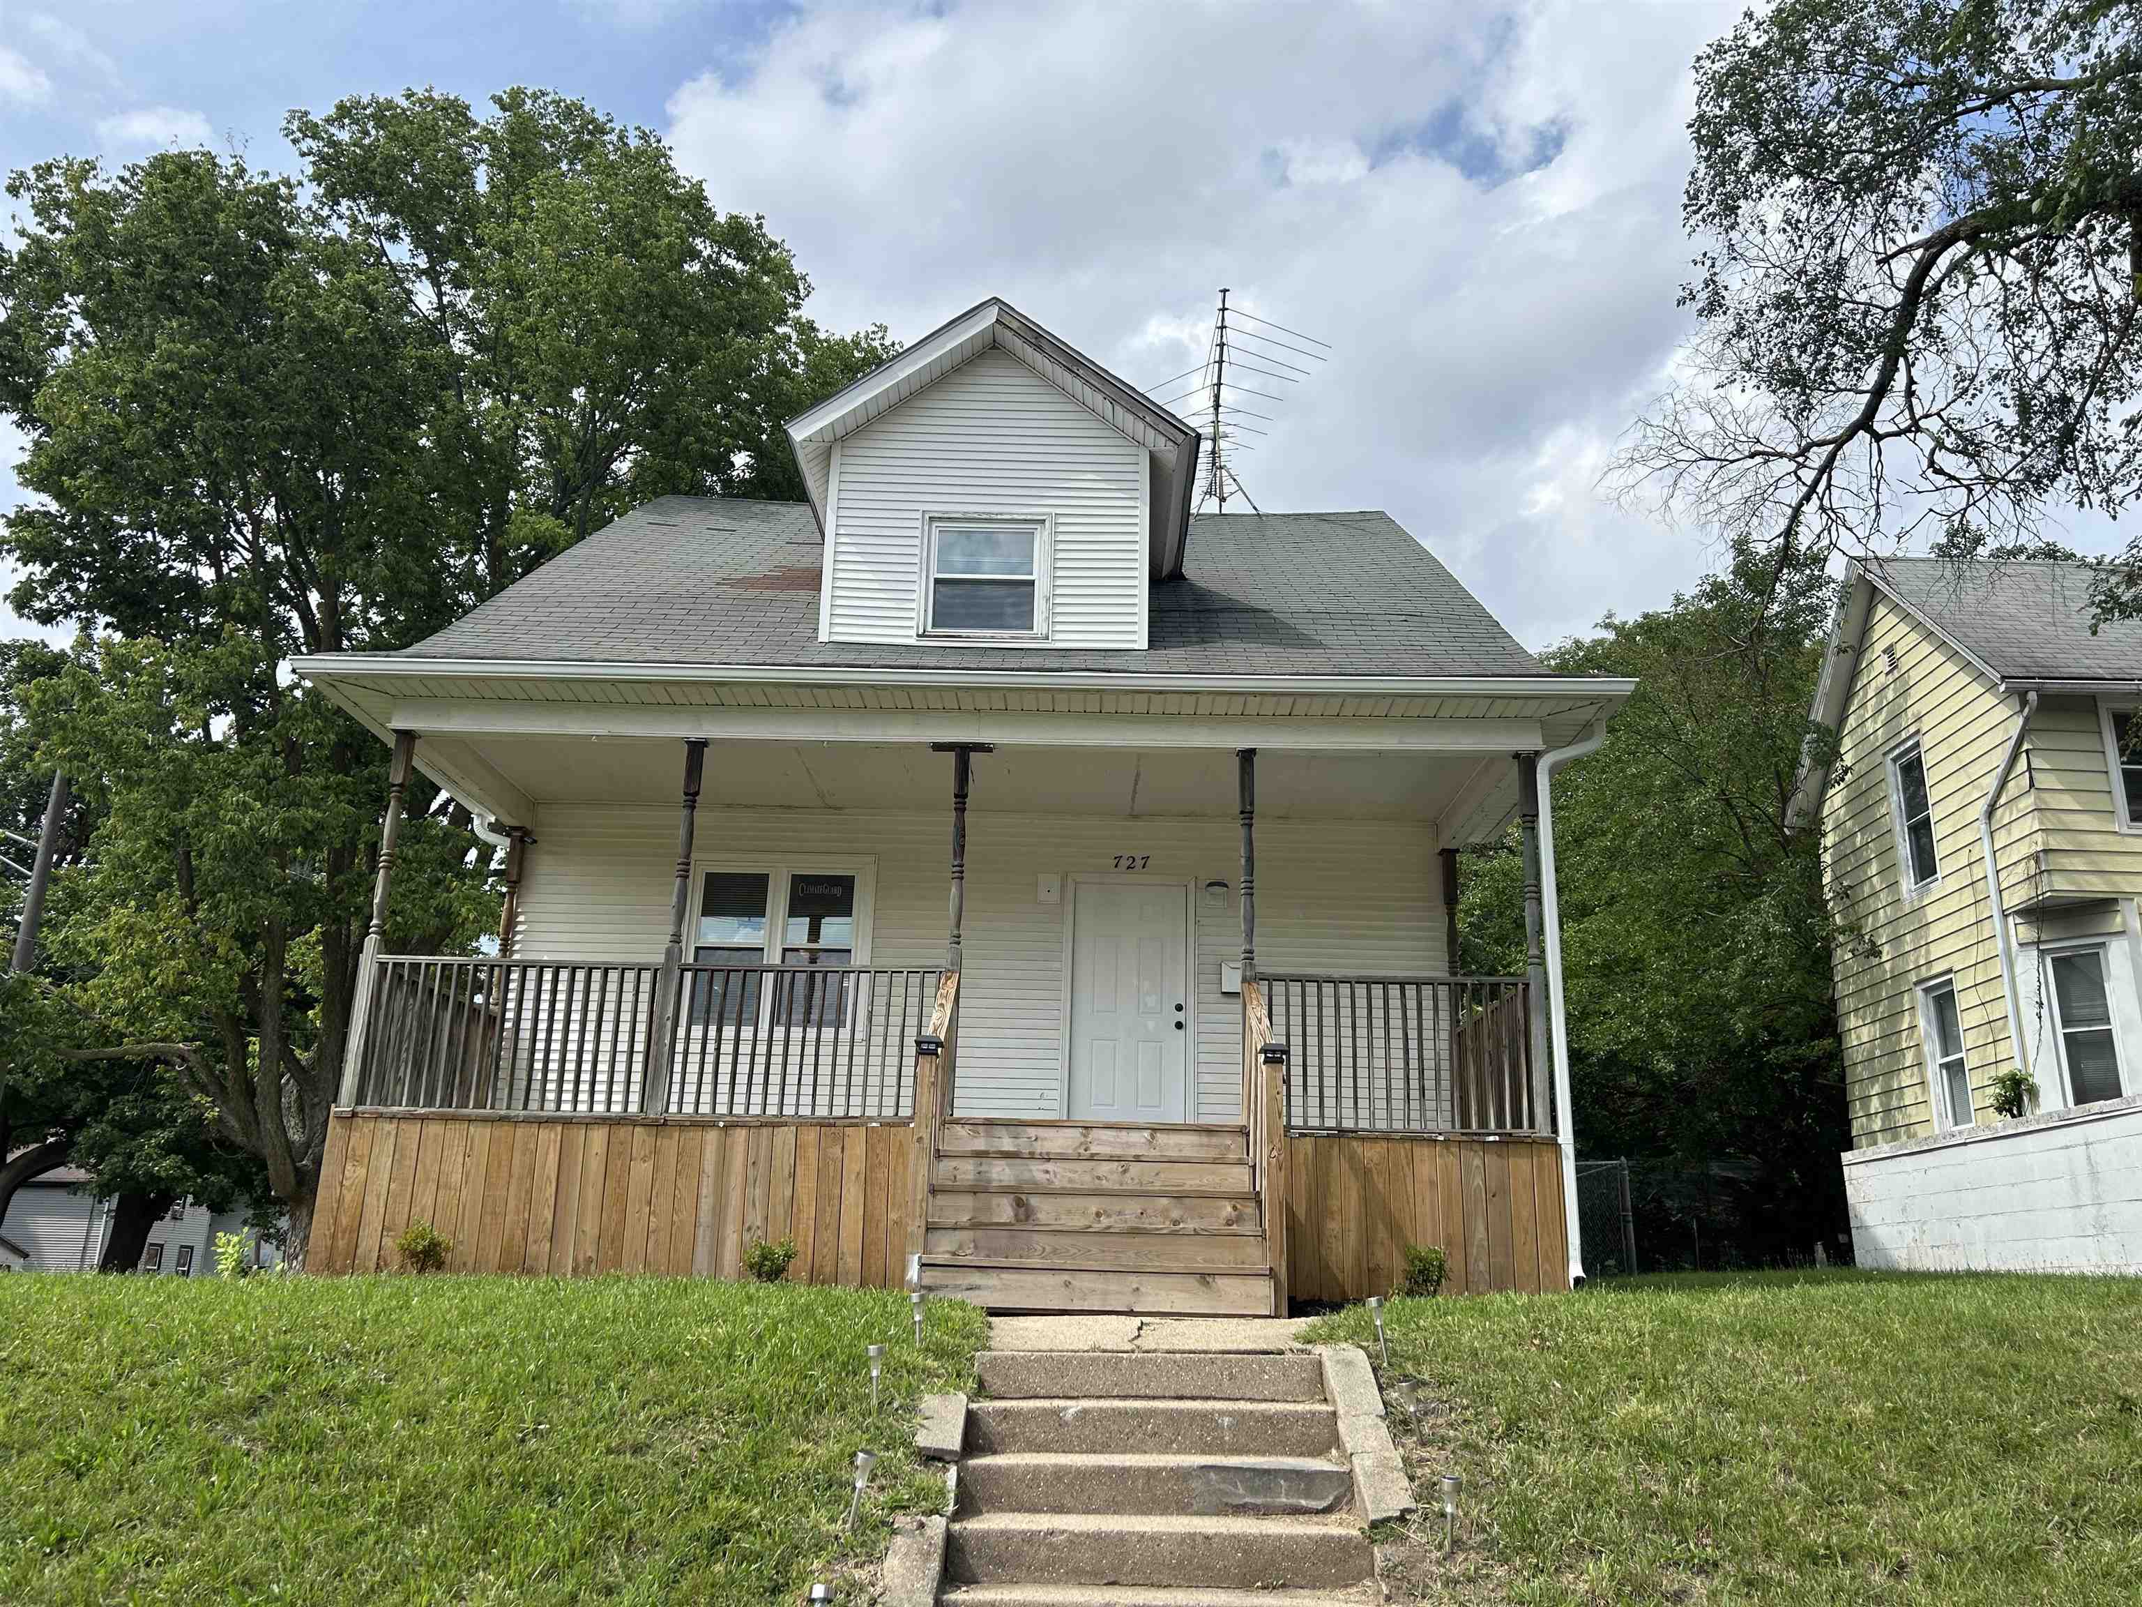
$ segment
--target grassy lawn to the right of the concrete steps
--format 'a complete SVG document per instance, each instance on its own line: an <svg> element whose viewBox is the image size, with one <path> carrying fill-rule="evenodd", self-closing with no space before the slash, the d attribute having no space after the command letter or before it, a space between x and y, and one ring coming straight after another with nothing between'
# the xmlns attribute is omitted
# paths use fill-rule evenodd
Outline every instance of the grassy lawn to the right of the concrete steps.
<svg viewBox="0 0 2142 1607"><path fill-rule="evenodd" d="M1392 1301L1394 1601L2142 1601L2142 1283L1881 1273ZM1360 1343L1367 1313L1315 1339ZM1412 1592L1412 1594L1407 1594Z"/></svg>

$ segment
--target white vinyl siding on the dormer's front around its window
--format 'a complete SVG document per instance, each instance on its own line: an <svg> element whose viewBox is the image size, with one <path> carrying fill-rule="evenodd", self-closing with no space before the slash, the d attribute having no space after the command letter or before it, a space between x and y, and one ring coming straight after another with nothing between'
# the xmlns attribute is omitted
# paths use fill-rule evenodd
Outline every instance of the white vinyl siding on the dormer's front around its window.
<svg viewBox="0 0 2142 1607"><path fill-rule="evenodd" d="M915 641L925 516L994 514L1052 521L1047 645L1144 647L1146 461L1017 358L983 351L840 444L829 641Z"/></svg>

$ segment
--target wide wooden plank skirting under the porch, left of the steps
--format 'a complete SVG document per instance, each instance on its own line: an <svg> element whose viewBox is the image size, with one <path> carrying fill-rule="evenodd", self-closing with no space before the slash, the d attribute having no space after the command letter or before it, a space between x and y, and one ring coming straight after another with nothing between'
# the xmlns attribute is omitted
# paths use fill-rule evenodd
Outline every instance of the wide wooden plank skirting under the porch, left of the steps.
<svg viewBox="0 0 2142 1607"><path fill-rule="evenodd" d="M893 1288L910 1148L906 1123L338 1110L306 1266L392 1271L428 1221L454 1273L741 1277L754 1238L793 1236L790 1283Z"/></svg>

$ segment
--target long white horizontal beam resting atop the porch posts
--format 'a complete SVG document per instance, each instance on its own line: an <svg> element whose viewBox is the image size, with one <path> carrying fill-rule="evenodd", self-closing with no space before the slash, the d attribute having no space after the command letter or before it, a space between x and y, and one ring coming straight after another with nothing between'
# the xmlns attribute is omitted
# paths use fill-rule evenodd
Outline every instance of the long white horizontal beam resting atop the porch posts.
<svg viewBox="0 0 2142 1607"><path fill-rule="evenodd" d="M767 744L990 741L1000 748L1420 752L1506 759L1544 746L1538 720L1017 714L1005 709L730 709L718 705L411 699L398 731L446 737L619 737ZM424 744L418 741L418 752Z"/></svg>

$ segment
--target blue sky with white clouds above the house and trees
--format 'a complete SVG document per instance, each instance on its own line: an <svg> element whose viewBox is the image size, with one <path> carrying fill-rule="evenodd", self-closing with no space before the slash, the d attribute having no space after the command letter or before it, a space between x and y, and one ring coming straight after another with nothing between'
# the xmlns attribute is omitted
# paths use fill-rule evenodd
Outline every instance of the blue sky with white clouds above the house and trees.
<svg viewBox="0 0 2142 1607"><path fill-rule="evenodd" d="M278 165L296 105L544 84L763 212L831 326L996 294L1152 384L1230 285L1332 347L1251 497L1390 510L1538 647L1714 557L1594 484L1684 334L1688 64L1735 9L0 0L0 167Z"/></svg>

